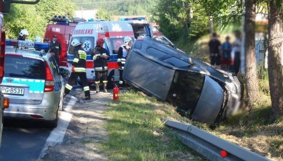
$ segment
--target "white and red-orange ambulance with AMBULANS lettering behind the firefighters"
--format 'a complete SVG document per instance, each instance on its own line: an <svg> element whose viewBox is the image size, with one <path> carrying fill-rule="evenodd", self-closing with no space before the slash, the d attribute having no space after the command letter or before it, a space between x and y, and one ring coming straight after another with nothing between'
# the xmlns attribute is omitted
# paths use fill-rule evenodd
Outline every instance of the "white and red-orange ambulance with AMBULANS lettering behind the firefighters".
<svg viewBox="0 0 283 161"><path fill-rule="evenodd" d="M157 29L156 29L157 30ZM71 41L77 39L83 43L83 49L87 53L86 72L88 83L94 83L94 61L91 59L91 51L96 46L97 38L103 38L104 48L110 53L108 64L108 87L113 85L113 82L119 81L119 70L117 63L118 49L123 45L123 39L126 36L135 41L135 36L143 35L144 37L153 35L153 26L145 21L144 18L132 18L131 20L124 18L120 21L104 21L100 19L89 20L88 22L80 22L77 24ZM68 70L71 72L71 62L74 60L72 47L69 46L67 61ZM80 79L77 82L79 85Z"/></svg>

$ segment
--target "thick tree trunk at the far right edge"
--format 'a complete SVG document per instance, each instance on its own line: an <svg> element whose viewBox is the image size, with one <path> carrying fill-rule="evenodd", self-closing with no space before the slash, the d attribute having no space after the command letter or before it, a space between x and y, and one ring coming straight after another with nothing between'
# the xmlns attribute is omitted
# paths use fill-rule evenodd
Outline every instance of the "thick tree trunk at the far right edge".
<svg viewBox="0 0 283 161"><path fill-rule="evenodd" d="M283 114L283 75L281 66L282 13L281 2L271 0L268 14L268 77L271 104L275 116Z"/></svg>

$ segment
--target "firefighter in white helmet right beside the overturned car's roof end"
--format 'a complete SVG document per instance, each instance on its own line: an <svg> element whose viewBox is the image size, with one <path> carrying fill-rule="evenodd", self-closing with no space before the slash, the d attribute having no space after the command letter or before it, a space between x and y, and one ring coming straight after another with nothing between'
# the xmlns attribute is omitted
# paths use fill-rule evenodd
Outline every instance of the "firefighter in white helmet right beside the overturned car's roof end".
<svg viewBox="0 0 283 161"><path fill-rule="evenodd" d="M119 47L118 50L118 65L119 65L119 73L120 73L120 79L119 79L119 89L122 90L123 86L125 85L125 82L123 80L123 70L124 70L124 65L126 63L126 58L127 58L127 54L130 50L131 44L132 44L132 38L130 37L125 37L124 38L124 44Z"/></svg>

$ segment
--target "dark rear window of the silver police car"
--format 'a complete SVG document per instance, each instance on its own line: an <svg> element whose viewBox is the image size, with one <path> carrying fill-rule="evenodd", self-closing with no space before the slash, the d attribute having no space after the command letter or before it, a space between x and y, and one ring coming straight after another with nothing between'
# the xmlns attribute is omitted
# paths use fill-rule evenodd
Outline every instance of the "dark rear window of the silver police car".
<svg viewBox="0 0 283 161"><path fill-rule="evenodd" d="M43 61L32 58L5 56L5 77L45 79Z"/></svg>

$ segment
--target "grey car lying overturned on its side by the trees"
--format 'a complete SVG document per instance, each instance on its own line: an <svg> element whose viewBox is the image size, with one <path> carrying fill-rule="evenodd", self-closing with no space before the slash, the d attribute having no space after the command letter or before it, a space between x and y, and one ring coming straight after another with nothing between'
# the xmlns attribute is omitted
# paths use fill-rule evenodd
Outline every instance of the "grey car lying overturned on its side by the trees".
<svg viewBox="0 0 283 161"><path fill-rule="evenodd" d="M236 112L243 96L242 83L234 73L214 69L149 37L133 43L123 79L171 103L181 114L209 124Z"/></svg>

